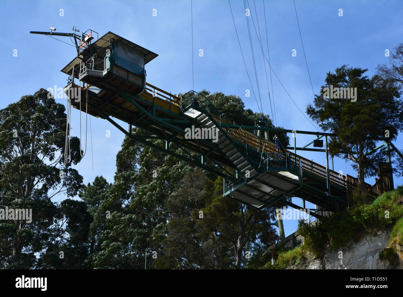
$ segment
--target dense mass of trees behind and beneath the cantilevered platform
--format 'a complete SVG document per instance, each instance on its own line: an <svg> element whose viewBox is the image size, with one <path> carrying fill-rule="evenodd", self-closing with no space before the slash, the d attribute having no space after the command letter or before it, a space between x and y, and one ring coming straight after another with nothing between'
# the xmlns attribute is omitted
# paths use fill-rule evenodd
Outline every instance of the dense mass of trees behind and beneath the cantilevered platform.
<svg viewBox="0 0 403 297"><path fill-rule="evenodd" d="M236 124L253 126L261 116L245 110L240 97L201 93ZM147 134L139 128L132 133ZM186 156L174 143L170 150ZM274 209L257 212L223 198L222 183L221 177L125 138L102 203L111 217L98 238L100 250L91 257L93 267L144 268L147 249L158 255L147 256L147 268L241 268L248 240L257 254L270 245L269 234L277 238L270 227Z"/></svg>

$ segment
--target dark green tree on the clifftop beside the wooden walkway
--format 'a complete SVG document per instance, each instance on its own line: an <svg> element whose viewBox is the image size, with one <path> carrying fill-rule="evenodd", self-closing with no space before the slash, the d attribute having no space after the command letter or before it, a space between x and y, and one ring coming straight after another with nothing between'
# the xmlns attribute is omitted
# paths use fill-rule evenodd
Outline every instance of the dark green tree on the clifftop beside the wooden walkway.
<svg viewBox="0 0 403 297"><path fill-rule="evenodd" d="M364 177L376 175L377 162L385 160L382 152L367 153L379 139L385 138L386 130L388 140L393 141L403 129L399 87L386 76L369 78L365 75L367 71L343 65L334 73L328 72L320 94L315 95L314 104L306 109L323 131L337 135L329 141L329 152L353 162L363 193L366 192ZM325 88L356 88L355 98L351 98L353 101L339 98L337 91L326 94Z"/></svg>

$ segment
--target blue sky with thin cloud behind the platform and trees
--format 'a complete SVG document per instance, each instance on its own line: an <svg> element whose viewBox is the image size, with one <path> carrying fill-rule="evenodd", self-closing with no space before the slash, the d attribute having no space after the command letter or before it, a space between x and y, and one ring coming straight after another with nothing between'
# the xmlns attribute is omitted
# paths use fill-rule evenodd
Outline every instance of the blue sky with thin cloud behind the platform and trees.
<svg viewBox="0 0 403 297"><path fill-rule="evenodd" d="M248 1L255 25L256 4L263 44L266 44L263 2ZM296 0L295 4L315 93L319 93L326 73L343 64L368 68L367 74L373 75L378 64L388 62L385 49L392 50L403 42L401 1ZM231 0L231 7L253 88L257 92L243 1ZM307 103L312 102L313 94L293 1L266 0L265 8L272 68L304 112ZM342 17L339 17L340 8L343 9ZM0 55L3 57L0 108L23 95L33 94L41 87L63 87L66 84L67 77L60 70L73 59L75 48L47 36L29 34L29 31L48 31L53 26L56 32L72 32L74 25L81 32L93 29L100 36L108 31L114 32L157 53L159 57L146 65L147 81L172 93L183 93L192 88L193 54L195 90L235 94L243 99L247 108L259 111L254 97L245 97L245 90L251 87L227 0L193 1L193 53L190 0L2 1L0 9ZM60 9L63 9L64 16L60 16ZM153 9L157 10L156 17L152 15ZM263 111L271 114L263 57L252 23L251 26ZM70 42L68 38L61 37L60 40ZM17 57L13 56L14 49L17 49ZM203 49L203 57L199 57L199 49ZM297 50L296 57L291 56L293 49ZM288 129L317 131L292 103L278 80L274 76L272 80L270 93L272 99L274 97L277 124ZM66 103L64 99L58 101ZM72 135L78 136L79 112L73 110L72 113ZM91 118L91 124L94 169L90 141L87 155L75 168L83 175L85 183L92 182L96 175L103 175L112 182L116 170L115 156L123 141L123 133L105 120ZM109 138L106 130L111 131ZM297 135L297 146L312 140L312 136ZM395 145L403 147L402 136ZM323 153L300 154L325 164ZM334 170L356 176L344 160L335 159ZM374 178L366 181L373 184ZM395 178L395 185L400 184L401 179ZM63 197L56 197L58 199ZM301 204L301 200L294 200L294 203ZM285 221L286 235L295 228L296 221Z"/></svg>

